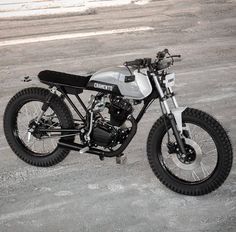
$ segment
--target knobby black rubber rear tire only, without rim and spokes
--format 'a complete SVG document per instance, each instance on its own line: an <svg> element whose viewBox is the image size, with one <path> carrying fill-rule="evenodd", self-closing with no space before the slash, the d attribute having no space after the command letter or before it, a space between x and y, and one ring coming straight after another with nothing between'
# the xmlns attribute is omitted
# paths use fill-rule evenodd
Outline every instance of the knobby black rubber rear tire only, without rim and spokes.
<svg viewBox="0 0 236 232"><path fill-rule="evenodd" d="M18 92L8 103L4 113L4 132L7 142L14 153L24 162L40 167L48 167L61 162L70 152L68 149L61 148L57 145L55 150L45 156L38 155L24 145L17 137L17 117L20 109L24 104L31 101L45 102L50 91L43 88L27 88ZM49 107L55 112L61 128L74 128L74 121L70 110L66 104L54 95L49 103ZM74 136L63 138L63 140L74 141Z"/></svg>

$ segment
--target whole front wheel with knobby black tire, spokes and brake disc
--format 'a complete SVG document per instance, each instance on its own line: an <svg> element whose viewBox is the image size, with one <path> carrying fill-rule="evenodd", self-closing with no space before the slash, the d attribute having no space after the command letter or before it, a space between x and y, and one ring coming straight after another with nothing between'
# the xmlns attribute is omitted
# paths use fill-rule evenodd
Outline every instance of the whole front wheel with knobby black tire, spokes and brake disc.
<svg viewBox="0 0 236 232"><path fill-rule="evenodd" d="M224 128L207 113L187 108L182 120L187 154L180 153L168 118L162 116L148 137L149 164L171 190L194 196L208 194L229 175L232 145Z"/></svg>

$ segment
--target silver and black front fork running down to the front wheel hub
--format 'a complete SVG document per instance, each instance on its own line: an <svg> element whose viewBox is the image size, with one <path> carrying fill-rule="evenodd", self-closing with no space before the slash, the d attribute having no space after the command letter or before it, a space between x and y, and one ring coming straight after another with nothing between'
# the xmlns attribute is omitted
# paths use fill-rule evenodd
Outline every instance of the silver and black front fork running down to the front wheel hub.
<svg viewBox="0 0 236 232"><path fill-rule="evenodd" d="M170 98L172 99L174 109L170 109L168 102L167 102L167 97L164 95L164 92L161 88L160 82L158 80L157 76L153 76L155 85L157 87L159 96L160 96L160 101L164 105L166 115L170 120L171 128L173 130L173 134L175 136L176 142L179 146L179 149L182 154L186 155L186 150L184 147L183 139L182 139L182 134L183 134L183 124L182 124L182 113L186 109L186 107L179 107L176 98L174 96L173 90L171 87L167 87L167 91L170 95Z"/></svg>

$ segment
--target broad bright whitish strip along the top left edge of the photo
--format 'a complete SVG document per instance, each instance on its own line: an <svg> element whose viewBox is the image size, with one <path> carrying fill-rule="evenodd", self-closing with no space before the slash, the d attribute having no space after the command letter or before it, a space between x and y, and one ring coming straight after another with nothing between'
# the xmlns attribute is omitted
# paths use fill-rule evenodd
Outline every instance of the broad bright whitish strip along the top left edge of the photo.
<svg viewBox="0 0 236 232"><path fill-rule="evenodd" d="M68 13L89 14L91 9L126 4L143 5L149 0L3 0L0 3L0 18L23 18L50 16Z"/></svg>

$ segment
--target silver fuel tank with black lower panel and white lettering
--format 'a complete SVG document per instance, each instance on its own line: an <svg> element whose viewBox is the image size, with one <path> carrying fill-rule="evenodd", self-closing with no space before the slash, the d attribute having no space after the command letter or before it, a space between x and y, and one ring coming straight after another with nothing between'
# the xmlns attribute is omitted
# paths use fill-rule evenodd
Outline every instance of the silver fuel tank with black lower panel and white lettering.
<svg viewBox="0 0 236 232"><path fill-rule="evenodd" d="M147 69L128 70L127 67L105 68L94 73L87 89L142 100L152 92Z"/></svg>

